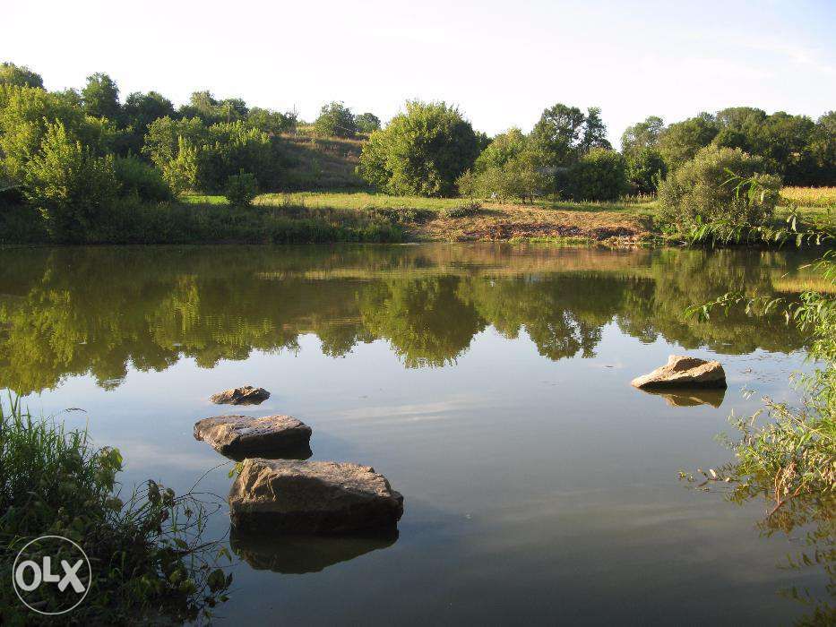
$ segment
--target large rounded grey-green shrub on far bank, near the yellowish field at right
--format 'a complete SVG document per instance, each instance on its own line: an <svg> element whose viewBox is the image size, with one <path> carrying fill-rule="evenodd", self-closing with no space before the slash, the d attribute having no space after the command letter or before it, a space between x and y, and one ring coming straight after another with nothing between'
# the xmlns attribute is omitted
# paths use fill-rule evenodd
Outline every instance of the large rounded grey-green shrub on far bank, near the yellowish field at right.
<svg viewBox="0 0 836 627"><path fill-rule="evenodd" d="M756 227L772 217L780 178L764 174L761 157L739 148L707 146L659 185L659 219L684 232L722 220L729 227ZM753 179L759 193L739 193L734 177Z"/></svg>

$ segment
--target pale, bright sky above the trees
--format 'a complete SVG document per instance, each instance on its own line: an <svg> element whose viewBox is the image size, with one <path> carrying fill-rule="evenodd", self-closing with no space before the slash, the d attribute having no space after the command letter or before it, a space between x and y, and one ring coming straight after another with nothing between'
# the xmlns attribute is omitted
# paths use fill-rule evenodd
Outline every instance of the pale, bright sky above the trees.
<svg viewBox="0 0 836 627"><path fill-rule="evenodd" d="M444 100L495 134L563 102L600 107L617 146L651 115L836 109L836 0L29 0L3 18L0 60L47 89L104 72L123 99L211 90L306 120L331 100L384 122Z"/></svg>

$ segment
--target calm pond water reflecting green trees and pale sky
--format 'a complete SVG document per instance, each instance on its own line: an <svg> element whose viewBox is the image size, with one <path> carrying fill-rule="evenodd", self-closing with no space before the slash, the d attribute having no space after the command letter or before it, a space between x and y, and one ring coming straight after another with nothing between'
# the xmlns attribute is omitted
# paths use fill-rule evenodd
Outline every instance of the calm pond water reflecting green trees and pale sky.
<svg viewBox="0 0 836 627"><path fill-rule="evenodd" d="M775 320L685 321L731 290L789 296L789 253L411 245L0 250L0 389L88 424L126 485L183 491L222 458L220 413L287 413L315 460L370 464L405 497L398 537L233 537L241 620L302 624L783 624L823 594L779 568L763 503L688 489L680 468L758 396L792 399L803 342ZM719 358L725 397L630 380L671 353ZM208 397L251 383L258 408ZM759 392L745 399L743 388ZM5 392L4 392L5 396ZM709 401L701 403L700 401ZM685 405L685 406L678 406ZM716 407L719 406L719 407ZM203 479L226 494L228 467ZM211 534L228 534L223 511Z"/></svg>

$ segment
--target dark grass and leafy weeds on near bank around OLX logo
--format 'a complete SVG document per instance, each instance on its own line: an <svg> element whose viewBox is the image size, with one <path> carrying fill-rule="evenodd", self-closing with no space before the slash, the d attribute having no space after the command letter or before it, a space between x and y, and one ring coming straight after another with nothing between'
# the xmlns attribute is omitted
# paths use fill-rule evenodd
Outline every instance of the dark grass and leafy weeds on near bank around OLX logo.
<svg viewBox="0 0 836 627"><path fill-rule="evenodd" d="M72 623L205 618L231 584L231 576L215 565L218 547L201 538L209 511L193 494L177 497L153 481L120 494L121 469L119 451L93 447L86 432L32 417L15 400L0 403L2 571L13 571L22 550L36 563L49 554L57 562L50 547L29 543L61 536L82 546L90 563L89 571L80 572L88 592L70 614ZM76 598L69 588L62 593L43 585L22 594L47 612ZM0 586L0 608L4 624L42 623L6 583Z"/></svg>

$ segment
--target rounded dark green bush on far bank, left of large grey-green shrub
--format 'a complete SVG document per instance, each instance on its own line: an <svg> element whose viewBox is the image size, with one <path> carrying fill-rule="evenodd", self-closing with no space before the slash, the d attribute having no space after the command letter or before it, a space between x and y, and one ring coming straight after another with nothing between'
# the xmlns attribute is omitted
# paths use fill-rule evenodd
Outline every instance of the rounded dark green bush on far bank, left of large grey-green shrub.
<svg viewBox="0 0 836 627"><path fill-rule="evenodd" d="M626 193L625 158L615 150L590 150L566 171L565 193L575 201L613 201Z"/></svg>

